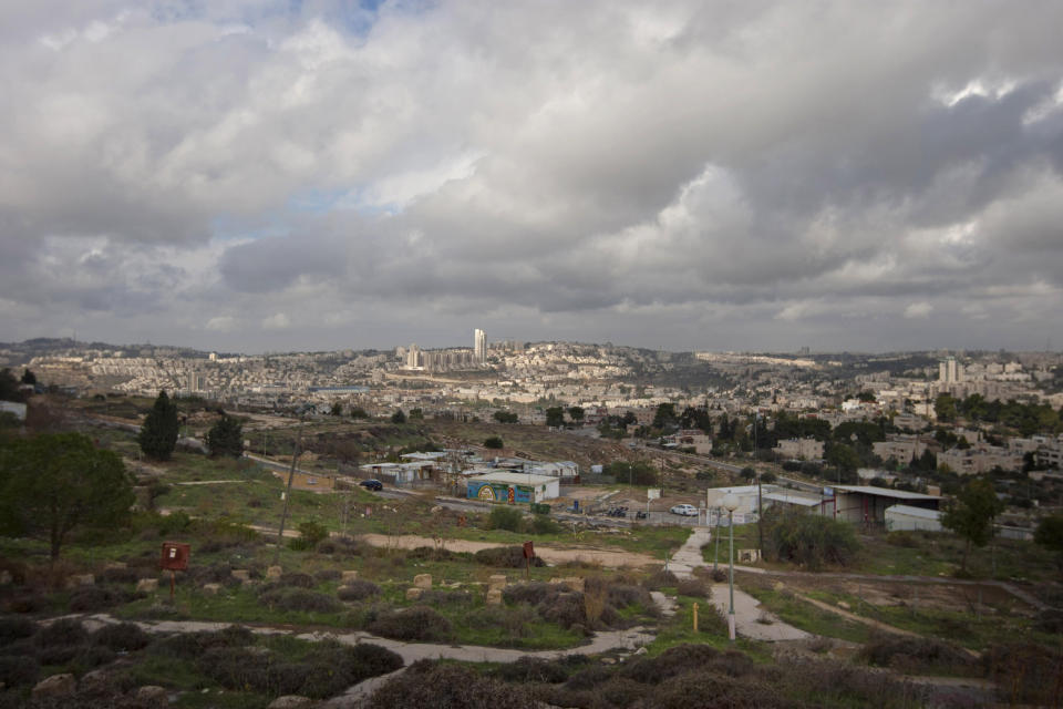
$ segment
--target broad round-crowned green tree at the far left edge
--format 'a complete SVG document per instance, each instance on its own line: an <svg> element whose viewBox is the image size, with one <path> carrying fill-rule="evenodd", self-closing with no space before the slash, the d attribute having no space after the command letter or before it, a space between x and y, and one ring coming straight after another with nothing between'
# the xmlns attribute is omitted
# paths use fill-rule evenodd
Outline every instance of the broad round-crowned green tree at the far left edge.
<svg viewBox="0 0 1063 709"><path fill-rule="evenodd" d="M14 439L0 448L0 532L48 540L52 562L79 527L125 524L133 479L113 451L81 433Z"/></svg>

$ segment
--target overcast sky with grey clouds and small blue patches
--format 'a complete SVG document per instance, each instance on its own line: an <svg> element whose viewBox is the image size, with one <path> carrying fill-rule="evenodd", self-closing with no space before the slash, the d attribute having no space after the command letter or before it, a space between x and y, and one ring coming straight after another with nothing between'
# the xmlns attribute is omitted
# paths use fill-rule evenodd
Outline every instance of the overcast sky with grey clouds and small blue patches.
<svg viewBox="0 0 1063 709"><path fill-rule="evenodd" d="M0 0L0 340L1060 349L1061 28Z"/></svg>

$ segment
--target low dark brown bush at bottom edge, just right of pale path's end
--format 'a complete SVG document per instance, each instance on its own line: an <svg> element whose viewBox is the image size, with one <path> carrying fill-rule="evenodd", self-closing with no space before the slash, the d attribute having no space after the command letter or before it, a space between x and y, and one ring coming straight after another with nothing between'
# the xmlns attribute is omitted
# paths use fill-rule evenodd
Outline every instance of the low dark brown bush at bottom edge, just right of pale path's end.
<svg viewBox="0 0 1063 709"><path fill-rule="evenodd" d="M369 706L379 709L534 709L539 705L520 687L483 677L464 667L421 660L376 690Z"/></svg>

